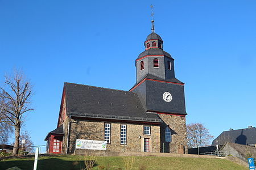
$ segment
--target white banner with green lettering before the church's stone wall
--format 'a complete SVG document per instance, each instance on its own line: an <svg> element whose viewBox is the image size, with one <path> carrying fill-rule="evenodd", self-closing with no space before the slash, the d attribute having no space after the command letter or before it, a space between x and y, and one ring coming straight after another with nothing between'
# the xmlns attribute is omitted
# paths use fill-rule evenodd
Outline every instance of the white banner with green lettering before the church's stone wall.
<svg viewBox="0 0 256 170"><path fill-rule="evenodd" d="M76 148L86 150L106 150L106 141L76 139Z"/></svg>

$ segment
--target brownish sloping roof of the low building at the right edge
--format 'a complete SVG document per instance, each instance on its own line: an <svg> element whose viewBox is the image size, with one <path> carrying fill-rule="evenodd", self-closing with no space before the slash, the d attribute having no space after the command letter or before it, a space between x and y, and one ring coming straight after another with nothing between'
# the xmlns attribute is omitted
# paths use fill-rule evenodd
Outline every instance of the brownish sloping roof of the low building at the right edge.
<svg viewBox="0 0 256 170"><path fill-rule="evenodd" d="M247 146L247 145L241 145L241 144L230 143L230 142L226 143L226 145L233 147L234 150L236 150L238 154L241 154L244 158L247 157L249 152L253 158L256 158L256 147L254 146ZM225 148L225 146L223 148Z"/></svg>

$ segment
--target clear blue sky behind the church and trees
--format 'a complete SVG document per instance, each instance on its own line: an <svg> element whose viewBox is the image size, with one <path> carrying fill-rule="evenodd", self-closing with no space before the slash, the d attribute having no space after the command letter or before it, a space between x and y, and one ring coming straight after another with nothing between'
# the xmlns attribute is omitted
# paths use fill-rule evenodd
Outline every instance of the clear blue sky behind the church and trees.
<svg viewBox="0 0 256 170"><path fill-rule="evenodd" d="M0 82L14 68L34 86L23 127L35 145L56 128L64 82L129 90L151 32L185 83L187 124L217 137L255 126L256 1L3 1Z"/></svg>

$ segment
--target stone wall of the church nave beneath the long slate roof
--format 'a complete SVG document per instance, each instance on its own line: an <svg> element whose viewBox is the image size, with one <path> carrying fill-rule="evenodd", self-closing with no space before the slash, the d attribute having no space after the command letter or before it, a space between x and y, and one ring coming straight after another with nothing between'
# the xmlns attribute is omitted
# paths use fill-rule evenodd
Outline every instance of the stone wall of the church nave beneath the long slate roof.
<svg viewBox="0 0 256 170"><path fill-rule="evenodd" d="M68 118L66 118L68 120ZM69 153L75 152L76 139L89 139L104 141L104 122L70 119L69 132ZM144 138L150 138L150 152L160 152L160 126L151 126L151 135L143 135L142 124L128 124L119 122L106 122L111 124L110 143L107 144L107 151L136 151L143 152ZM127 142L126 145L120 144L120 126L127 125ZM67 127L67 126L65 126ZM63 147L67 143L67 128L65 128L65 137ZM76 153L84 150L76 150Z"/></svg>

